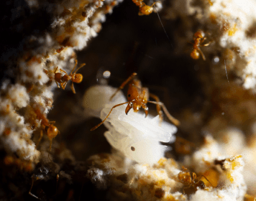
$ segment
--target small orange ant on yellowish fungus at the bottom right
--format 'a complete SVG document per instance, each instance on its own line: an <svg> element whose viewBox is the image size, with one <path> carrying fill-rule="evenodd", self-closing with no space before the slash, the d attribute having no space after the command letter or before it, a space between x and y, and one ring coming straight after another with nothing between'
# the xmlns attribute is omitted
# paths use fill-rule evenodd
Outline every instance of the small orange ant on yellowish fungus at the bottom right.
<svg viewBox="0 0 256 201"><path fill-rule="evenodd" d="M201 175L201 177L204 177L207 180L207 182L209 182L209 180L204 175ZM191 174L191 172L188 172L188 169L183 167L183 171L178 174L178 182L187 186L187 187L183 187L183 192L184 192L184 189L188 189L190 187L193 187L195 189L199 187L202 190L204 190L206 188L206 185L204 184L203 181L201 181L201 177L198 179L196 177L195 172L192 172ZM209 184L211 184L211 182L209 182ZM211 186L214 187L212 184Z"/></svg>

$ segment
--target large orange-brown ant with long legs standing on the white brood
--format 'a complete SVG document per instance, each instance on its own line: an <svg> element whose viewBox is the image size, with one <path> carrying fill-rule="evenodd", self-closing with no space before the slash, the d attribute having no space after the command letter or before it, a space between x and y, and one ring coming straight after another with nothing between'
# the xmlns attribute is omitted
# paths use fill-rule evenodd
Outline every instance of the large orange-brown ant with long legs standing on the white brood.
<svg viewBox="0 0 256 201"><path fill-rule="evenodd" d="M157 106L157 113L160 116L160 122L163 121L163 112L161 111L161 107L162 107L163 111L165 112L166 116L168 116L169 120L173 122L175 126L178 126L180 124L180 121L178 121L177 119L175 119L173 116L170 115L167 108L165 108L165 105L162 102L160 102L157 95L149 93L148 88L142 88L142 84L140 80L134 79L135 75L137 75L137 73L132 73L132 75L130 75L129 78L127 78L127 80L125 80L124 83L122 83L122 85L116 90L116 92L110 98L110 101L111 101L111 99L114 98L116 93L119 92L119 90L122 90L124 86L127 85L127 83L129 83L129 88L127 92L128 101L125 103L120 103L115 105L113 108L111 108L111 111L118 106L122 106L128 103L127 108L125 109L126 114L128 114L128 112L132 108L134 112L137 112L140 110L140 107L142 107L145 110L145 117L147 117L147 114L148 114L147 103L154 103ZM155 101L147 101L149 97L154 98ZM106 118L109 117L111 111L106 116ZM104 121L106 121L106 118L104 119ZM102 121L98 125L91 128L91 131L94 131L96 128L101 126L101 124L104 123L104 121Z"/></svg>

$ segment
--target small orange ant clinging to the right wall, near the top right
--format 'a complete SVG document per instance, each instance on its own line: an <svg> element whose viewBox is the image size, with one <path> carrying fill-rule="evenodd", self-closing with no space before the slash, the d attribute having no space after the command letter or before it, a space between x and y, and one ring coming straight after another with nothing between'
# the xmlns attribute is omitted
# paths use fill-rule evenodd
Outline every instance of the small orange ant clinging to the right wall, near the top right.
<svg viewBox="0 0 256 201"><path fill-rule="evenodd" d="M206 37L204 37L204 36L205 36L205 33L202 30L198 30L198 32L196 32L193 35L194 43L192 43L193 51L191 52L191 57L194 60L198 60L200 57L200 54L201 54L203 60L206 60L206 57L204 56L204 53L201 51L200 46L208 46L208 45L210 45L211 42L209 42L205 45L201 45L204 42L204 40L206 39Z"/></svg>

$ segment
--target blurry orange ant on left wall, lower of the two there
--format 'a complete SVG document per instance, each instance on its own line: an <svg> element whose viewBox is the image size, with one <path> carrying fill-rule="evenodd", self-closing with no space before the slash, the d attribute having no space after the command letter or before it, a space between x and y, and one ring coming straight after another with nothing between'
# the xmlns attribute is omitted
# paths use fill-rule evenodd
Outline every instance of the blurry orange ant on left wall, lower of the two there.
<svg viewBox="0 0 256 201"><path fill-rule="evenodd" d="M39 118L41 121L42 128L45 130L48 139L50 139L50 151L52 150L52 139L55 138L58 134L60 134L60 131L58 131L58 128L56 126L53 126L53 123L55 121L49 121L45 115L42 114L40 111L40 108L37 107L34 109L35 113L37 114L37 118ZM40 139L38 139L37 145L40 143L42 139L42 130L40 131Z"/></svg>

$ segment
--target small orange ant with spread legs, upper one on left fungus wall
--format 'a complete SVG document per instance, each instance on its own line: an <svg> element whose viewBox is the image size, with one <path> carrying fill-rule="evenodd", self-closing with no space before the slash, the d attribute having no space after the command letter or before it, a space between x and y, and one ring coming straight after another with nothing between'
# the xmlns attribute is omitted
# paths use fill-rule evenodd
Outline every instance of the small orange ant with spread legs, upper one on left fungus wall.
<svg viewBox="0 0 256 201"><path fill-rule="evenodd" d="M76 65L77 64L78 64L78 60L76 60ZM73 67L73 70L75 70L76 65ZM65 70L62 70L62 69L60 69L60 71L65 73L65 75L63 75L62 73L56 73L58 70L58 67L56 67L55 82L58 85L58 88L60 88L61 86L61 88L65 89L65 86L67 85L68 81L71 80L72 81L71 90L73 91L73 93L76 93L73 83L81 83L83 80L83 75L81 73L76 73L76 72L78 72L78 70L84 65L86 64L85 63L81 64L80 67L78 67L78 69L75 71L75 73L73 73L73 70L72 70L69 75L68 73L65 72ZM58 83L60 83L60 85Z"/></svg>

